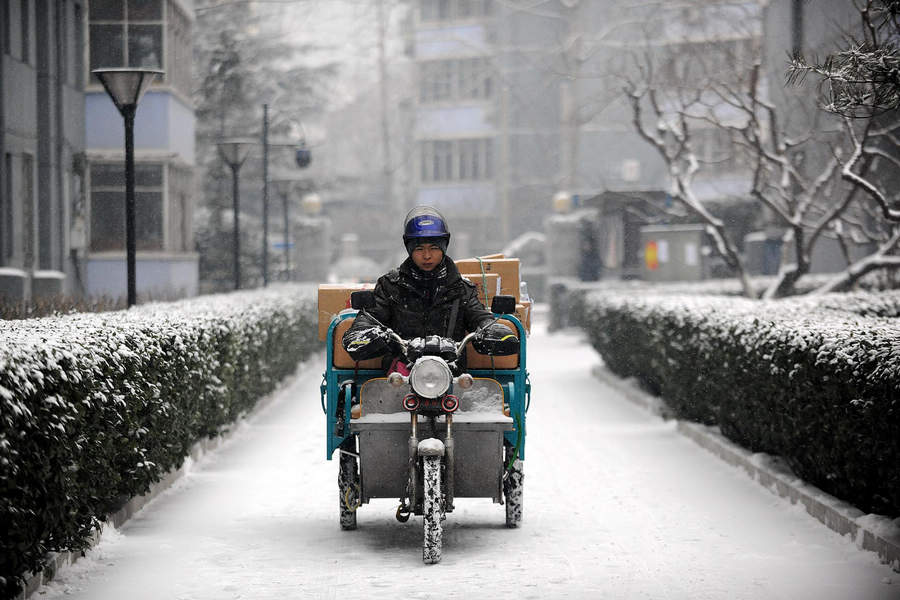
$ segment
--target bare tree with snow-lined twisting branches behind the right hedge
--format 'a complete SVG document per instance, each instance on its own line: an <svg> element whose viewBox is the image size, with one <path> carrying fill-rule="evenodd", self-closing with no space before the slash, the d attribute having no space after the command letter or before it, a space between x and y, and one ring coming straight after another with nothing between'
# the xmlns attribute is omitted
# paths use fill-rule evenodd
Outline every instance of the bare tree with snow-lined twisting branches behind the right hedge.
<svg viewBox="0 0 900 600"><path fill-rule="evenodd" d="M810 131L788 135L796 115L764 97L759 60L745 72L717 77L704 70L709 52L715 47L705 57L682 57L699 76L665 85L657 74L660 56L648 51L626 78L626 93L637 132L668 168L673 198L706 223L745 293L753 295L737 245L693 193L695 178L710 166L695 149L693 131L700 126L727 134L747 169L747 195L785 230L781 268L765 297L795 293L797 281L810 271L816 244L826 236L844 249L847 268L819 291L843 289L873 270L900 266L900 198L892 175L900 167L898 123L871 116L814 119ZM869 251L854 256L851 247Z"/></svg>

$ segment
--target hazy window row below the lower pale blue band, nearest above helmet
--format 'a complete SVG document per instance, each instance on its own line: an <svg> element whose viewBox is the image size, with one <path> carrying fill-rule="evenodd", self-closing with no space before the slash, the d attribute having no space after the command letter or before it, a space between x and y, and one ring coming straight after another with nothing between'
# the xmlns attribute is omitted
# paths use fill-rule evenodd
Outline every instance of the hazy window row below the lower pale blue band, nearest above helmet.
<svg viewBox="0 0 900 600"><path fill-rule="evenodd" d="M489 138L419 142L423 183L484 181L494 175L493 141Z"/></svg>

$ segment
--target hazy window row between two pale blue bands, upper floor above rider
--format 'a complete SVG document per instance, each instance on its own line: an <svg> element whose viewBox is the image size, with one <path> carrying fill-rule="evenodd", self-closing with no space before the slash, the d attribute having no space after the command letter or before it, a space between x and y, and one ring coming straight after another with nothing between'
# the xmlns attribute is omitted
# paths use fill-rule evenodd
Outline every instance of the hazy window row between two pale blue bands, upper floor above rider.
<svg viewBox="0 0 900 600"><path fill-rule="evenodd" d="M493 93L487 58L430 60L419 63L419 101L483 100Z"/></svg>

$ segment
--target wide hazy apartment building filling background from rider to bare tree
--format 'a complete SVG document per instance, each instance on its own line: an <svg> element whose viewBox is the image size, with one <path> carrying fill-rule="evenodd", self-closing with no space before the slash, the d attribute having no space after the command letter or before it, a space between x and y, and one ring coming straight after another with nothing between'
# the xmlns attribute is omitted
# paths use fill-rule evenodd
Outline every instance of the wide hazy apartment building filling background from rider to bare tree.
<svg viewBox="0 0 900 600"><path fill-rule="evenodd" d="M734 73L758 51L761 32L755 2L416 4L413 200L446 210L471 232L475 253L543 229L560 191L576 206L609 193L645 194L641 204L664 197L666 165L635 131L623 94L629 65L650 55L659 85L683 86L691 57L707 75ZM726 137L697 128L700 159L716 164L698 181L705 199L727 200L747 177ZM600 247L621 272L634 258L622 235L631 229L612 212L601 230L613 237Z"/></svg>

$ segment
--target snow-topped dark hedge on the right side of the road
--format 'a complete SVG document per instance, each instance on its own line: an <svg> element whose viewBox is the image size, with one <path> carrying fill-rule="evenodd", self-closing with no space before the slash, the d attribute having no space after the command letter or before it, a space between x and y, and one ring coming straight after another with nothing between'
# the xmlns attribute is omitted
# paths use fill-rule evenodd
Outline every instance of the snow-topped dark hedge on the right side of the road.
<svg viewBox="0 0 900 600"><path fill-rule="evenodd" d="M761 302L592 291L578 303L607 366L678 417L900 516L900 293Z"/></svg>

